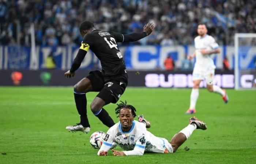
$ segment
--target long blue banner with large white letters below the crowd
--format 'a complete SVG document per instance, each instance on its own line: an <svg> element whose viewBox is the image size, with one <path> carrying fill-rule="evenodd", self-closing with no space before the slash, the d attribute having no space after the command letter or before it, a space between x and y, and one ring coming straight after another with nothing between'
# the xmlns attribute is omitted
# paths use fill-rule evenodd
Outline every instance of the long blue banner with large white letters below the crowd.
<svg viewBox="0 0 256 164"><path fill-rule="evenodd" d="M223 58L227 56L230 68L234 68L234 47L220 46L221 53L211 55L217 69L222 69ZM0 69L46 69L49 56L55 62L55 69L68 70L74 60L78 46L43 47L37 46L35 53L25 46L0 46ZM256 47L241 47L240 67L255 69ZM127 69L130 70L163 70L164 60L171 56L175 67L182 69L187 54L195 51L194 46L128 46L120 47ZM49 61L49 60L47 60ZM195 60L192 61L194 63ZM100 69L100 62L93 52L87 52L80 69Z"/></svg>

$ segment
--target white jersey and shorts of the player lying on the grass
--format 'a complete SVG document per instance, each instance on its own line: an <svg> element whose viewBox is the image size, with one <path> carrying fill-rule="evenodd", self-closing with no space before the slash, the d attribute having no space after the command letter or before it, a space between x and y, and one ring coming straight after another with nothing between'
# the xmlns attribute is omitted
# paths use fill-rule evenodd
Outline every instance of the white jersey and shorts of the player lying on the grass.
<svg viewBox="0 0 256 164"><path fill-rule="evenodd" d="M118 122L112 126L103 140L103 144L98 151L108 151L112 146L112 142L116 142L125 153L125 155L143 155L144 152L155 153L172 153L172 145L161 137L156 137L148 132L145 124L133 121L132 128L129 132L123 132L121 123Z"/></svg>

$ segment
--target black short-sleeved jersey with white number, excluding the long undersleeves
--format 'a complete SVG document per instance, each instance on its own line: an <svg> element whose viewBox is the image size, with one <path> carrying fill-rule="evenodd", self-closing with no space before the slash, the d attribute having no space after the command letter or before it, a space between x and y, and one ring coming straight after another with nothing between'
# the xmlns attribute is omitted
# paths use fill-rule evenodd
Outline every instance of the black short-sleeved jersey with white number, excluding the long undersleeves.
<svg viewBox="0 0 256 164"><path fill-rule="evenodd" d="M117 47L117 42L123 42L123 40L122 34L93 30L84 36L82 44L89 45L101 62L103 75L109 78L124 73L123 55Z"/></svg>

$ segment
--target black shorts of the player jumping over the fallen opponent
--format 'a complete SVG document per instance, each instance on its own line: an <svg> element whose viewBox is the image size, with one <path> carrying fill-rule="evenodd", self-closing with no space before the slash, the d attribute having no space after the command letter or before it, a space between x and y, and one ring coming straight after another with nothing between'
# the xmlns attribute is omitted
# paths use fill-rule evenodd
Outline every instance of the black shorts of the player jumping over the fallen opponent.
<svg viewBox="0 0 256 164"><path fill-rule="evenodd" d="M110 102L116 103L124 93L127 82L123 81L123 77L120 80L118 80L118 77L115 77L113 80L104 81L101 71L91 71L86 78L91 81L92 91L99 91L97 97L103 99L107 105Z"/></svg>

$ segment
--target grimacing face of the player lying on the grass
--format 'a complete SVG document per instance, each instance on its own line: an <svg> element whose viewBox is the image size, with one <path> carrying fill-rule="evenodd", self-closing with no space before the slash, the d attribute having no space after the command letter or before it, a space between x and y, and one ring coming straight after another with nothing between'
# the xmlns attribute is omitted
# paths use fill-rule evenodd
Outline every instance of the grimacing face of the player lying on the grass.
<svg viewBox="0 0 256 164"><path fill-rule="evenodd" d="M121 109L119 120L121 122L122 128L131 128L133 121L132 110L129 108Z"/></svg>

